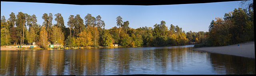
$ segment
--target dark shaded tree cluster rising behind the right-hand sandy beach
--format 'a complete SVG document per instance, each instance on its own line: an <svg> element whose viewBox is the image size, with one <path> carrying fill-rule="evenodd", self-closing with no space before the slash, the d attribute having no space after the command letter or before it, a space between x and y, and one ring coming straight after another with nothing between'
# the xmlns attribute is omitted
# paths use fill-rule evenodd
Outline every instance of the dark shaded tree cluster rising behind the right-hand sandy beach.
<svg viewBox="0 0 256 76"><path fill-rule="evenodd" d="M253 9L234 9L224 14L224 18L215 18L209 26L208 44L212 46L232 45L245 41L254 41Z"/></svg>

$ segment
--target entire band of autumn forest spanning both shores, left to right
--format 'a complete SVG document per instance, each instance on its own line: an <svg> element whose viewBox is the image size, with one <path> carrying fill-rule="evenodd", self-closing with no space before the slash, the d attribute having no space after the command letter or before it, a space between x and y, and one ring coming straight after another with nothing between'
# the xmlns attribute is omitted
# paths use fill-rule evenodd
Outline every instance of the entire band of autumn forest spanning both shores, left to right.
<svg viewBox="0 0 256 76"><path fill-rule="evenodd" d="M253 11L238 8L215 18L209 31L185 33L178 25L166 25L160 21L154 27L129 27L129 21L116 18L116 26L105 29L100 15L96 18L87 14L84 19L79 14L70 15L68 27L64 25L61 14L55 14L56 24L52 24L53 14L43 14L42 25L38 25L36 15L13 12L7 20L1 17L1 46L23 45L36 42L41 47L48 43L70 45L72 47L98 47L119 44L123 47L188 45L192 42L210 46L224 46L254 40ZM28 28L26 27L28 26Z"/></svg>

